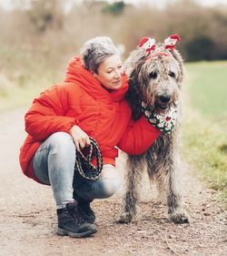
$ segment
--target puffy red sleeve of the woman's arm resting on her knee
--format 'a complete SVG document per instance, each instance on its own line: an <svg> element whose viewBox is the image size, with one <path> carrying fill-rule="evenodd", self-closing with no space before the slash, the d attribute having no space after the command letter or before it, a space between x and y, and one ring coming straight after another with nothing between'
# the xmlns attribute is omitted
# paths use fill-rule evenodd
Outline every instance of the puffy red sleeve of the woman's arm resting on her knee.
<svg viewBox="0 0 227 256"><path fill-rule="evenodd" d="M75 118L64 117L67 95L57 86L44 91L40 97L35 98L33 105L25 114L25 130L35 138L44 140L57 131L68 132L75 124Z"/></svg>

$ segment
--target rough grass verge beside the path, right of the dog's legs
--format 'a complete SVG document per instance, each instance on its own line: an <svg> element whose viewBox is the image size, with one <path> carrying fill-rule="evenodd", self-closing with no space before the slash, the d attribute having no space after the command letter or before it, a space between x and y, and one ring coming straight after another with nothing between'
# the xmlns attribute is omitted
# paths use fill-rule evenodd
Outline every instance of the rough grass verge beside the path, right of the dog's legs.
<svg viewBox="0 0 227 256"><path fill-rule="evenodd" d="M201 120L193 116L183 124L183 157L197 176L220 193L227 208L226 134L219 126Z"/></svg>

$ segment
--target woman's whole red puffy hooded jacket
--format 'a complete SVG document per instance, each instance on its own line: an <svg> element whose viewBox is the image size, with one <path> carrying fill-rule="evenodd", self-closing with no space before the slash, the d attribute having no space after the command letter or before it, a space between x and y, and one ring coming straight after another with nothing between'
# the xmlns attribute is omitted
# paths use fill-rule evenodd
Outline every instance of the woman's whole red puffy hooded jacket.
<svg viewBox="0 0 227 256"><path fill-rule="evenodd" d="M158 138L160 131L144 117L131 118L124 95L128 83L123 76L120 89L108 92L84 69L79 57L69 63L64 83L50 87L35 98L25 114L28 133L20 152L20 164L26 176L35 179L32 159L45 138L57 131L68 132L78 125L98 142L104 163L114 165L118 148L131 155L143 154Z"/></svg>

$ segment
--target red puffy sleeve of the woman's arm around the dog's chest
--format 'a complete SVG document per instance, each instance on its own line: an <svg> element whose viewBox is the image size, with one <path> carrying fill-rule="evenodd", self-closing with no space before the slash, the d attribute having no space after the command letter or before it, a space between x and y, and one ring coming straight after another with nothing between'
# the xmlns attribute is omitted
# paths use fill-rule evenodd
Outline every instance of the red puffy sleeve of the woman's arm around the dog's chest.
<svg viewBox="0 0 227 256"><path fill-rule="evenodd" d="M154 128L145 117L131 120L126 132L117 147L129 155L142 155L150 148L160 135L160 130Z"/></svg>

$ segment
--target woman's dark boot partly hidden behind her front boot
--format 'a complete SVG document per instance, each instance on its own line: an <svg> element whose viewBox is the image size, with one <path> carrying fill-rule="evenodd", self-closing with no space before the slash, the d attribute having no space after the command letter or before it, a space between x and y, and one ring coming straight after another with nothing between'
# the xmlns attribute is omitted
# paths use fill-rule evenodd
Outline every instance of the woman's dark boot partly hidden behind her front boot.
<svg viewBox="0 0 227 256"><path fill-rule="evenodd" d="M84 200L77 196L75 190L74 190L74 200L78 201L78 207L80 210L84 212L84 220L86 220L88 223L94 224L95 222L95 214L94 210L91 209L91 202L93 200Z"/></svg>

